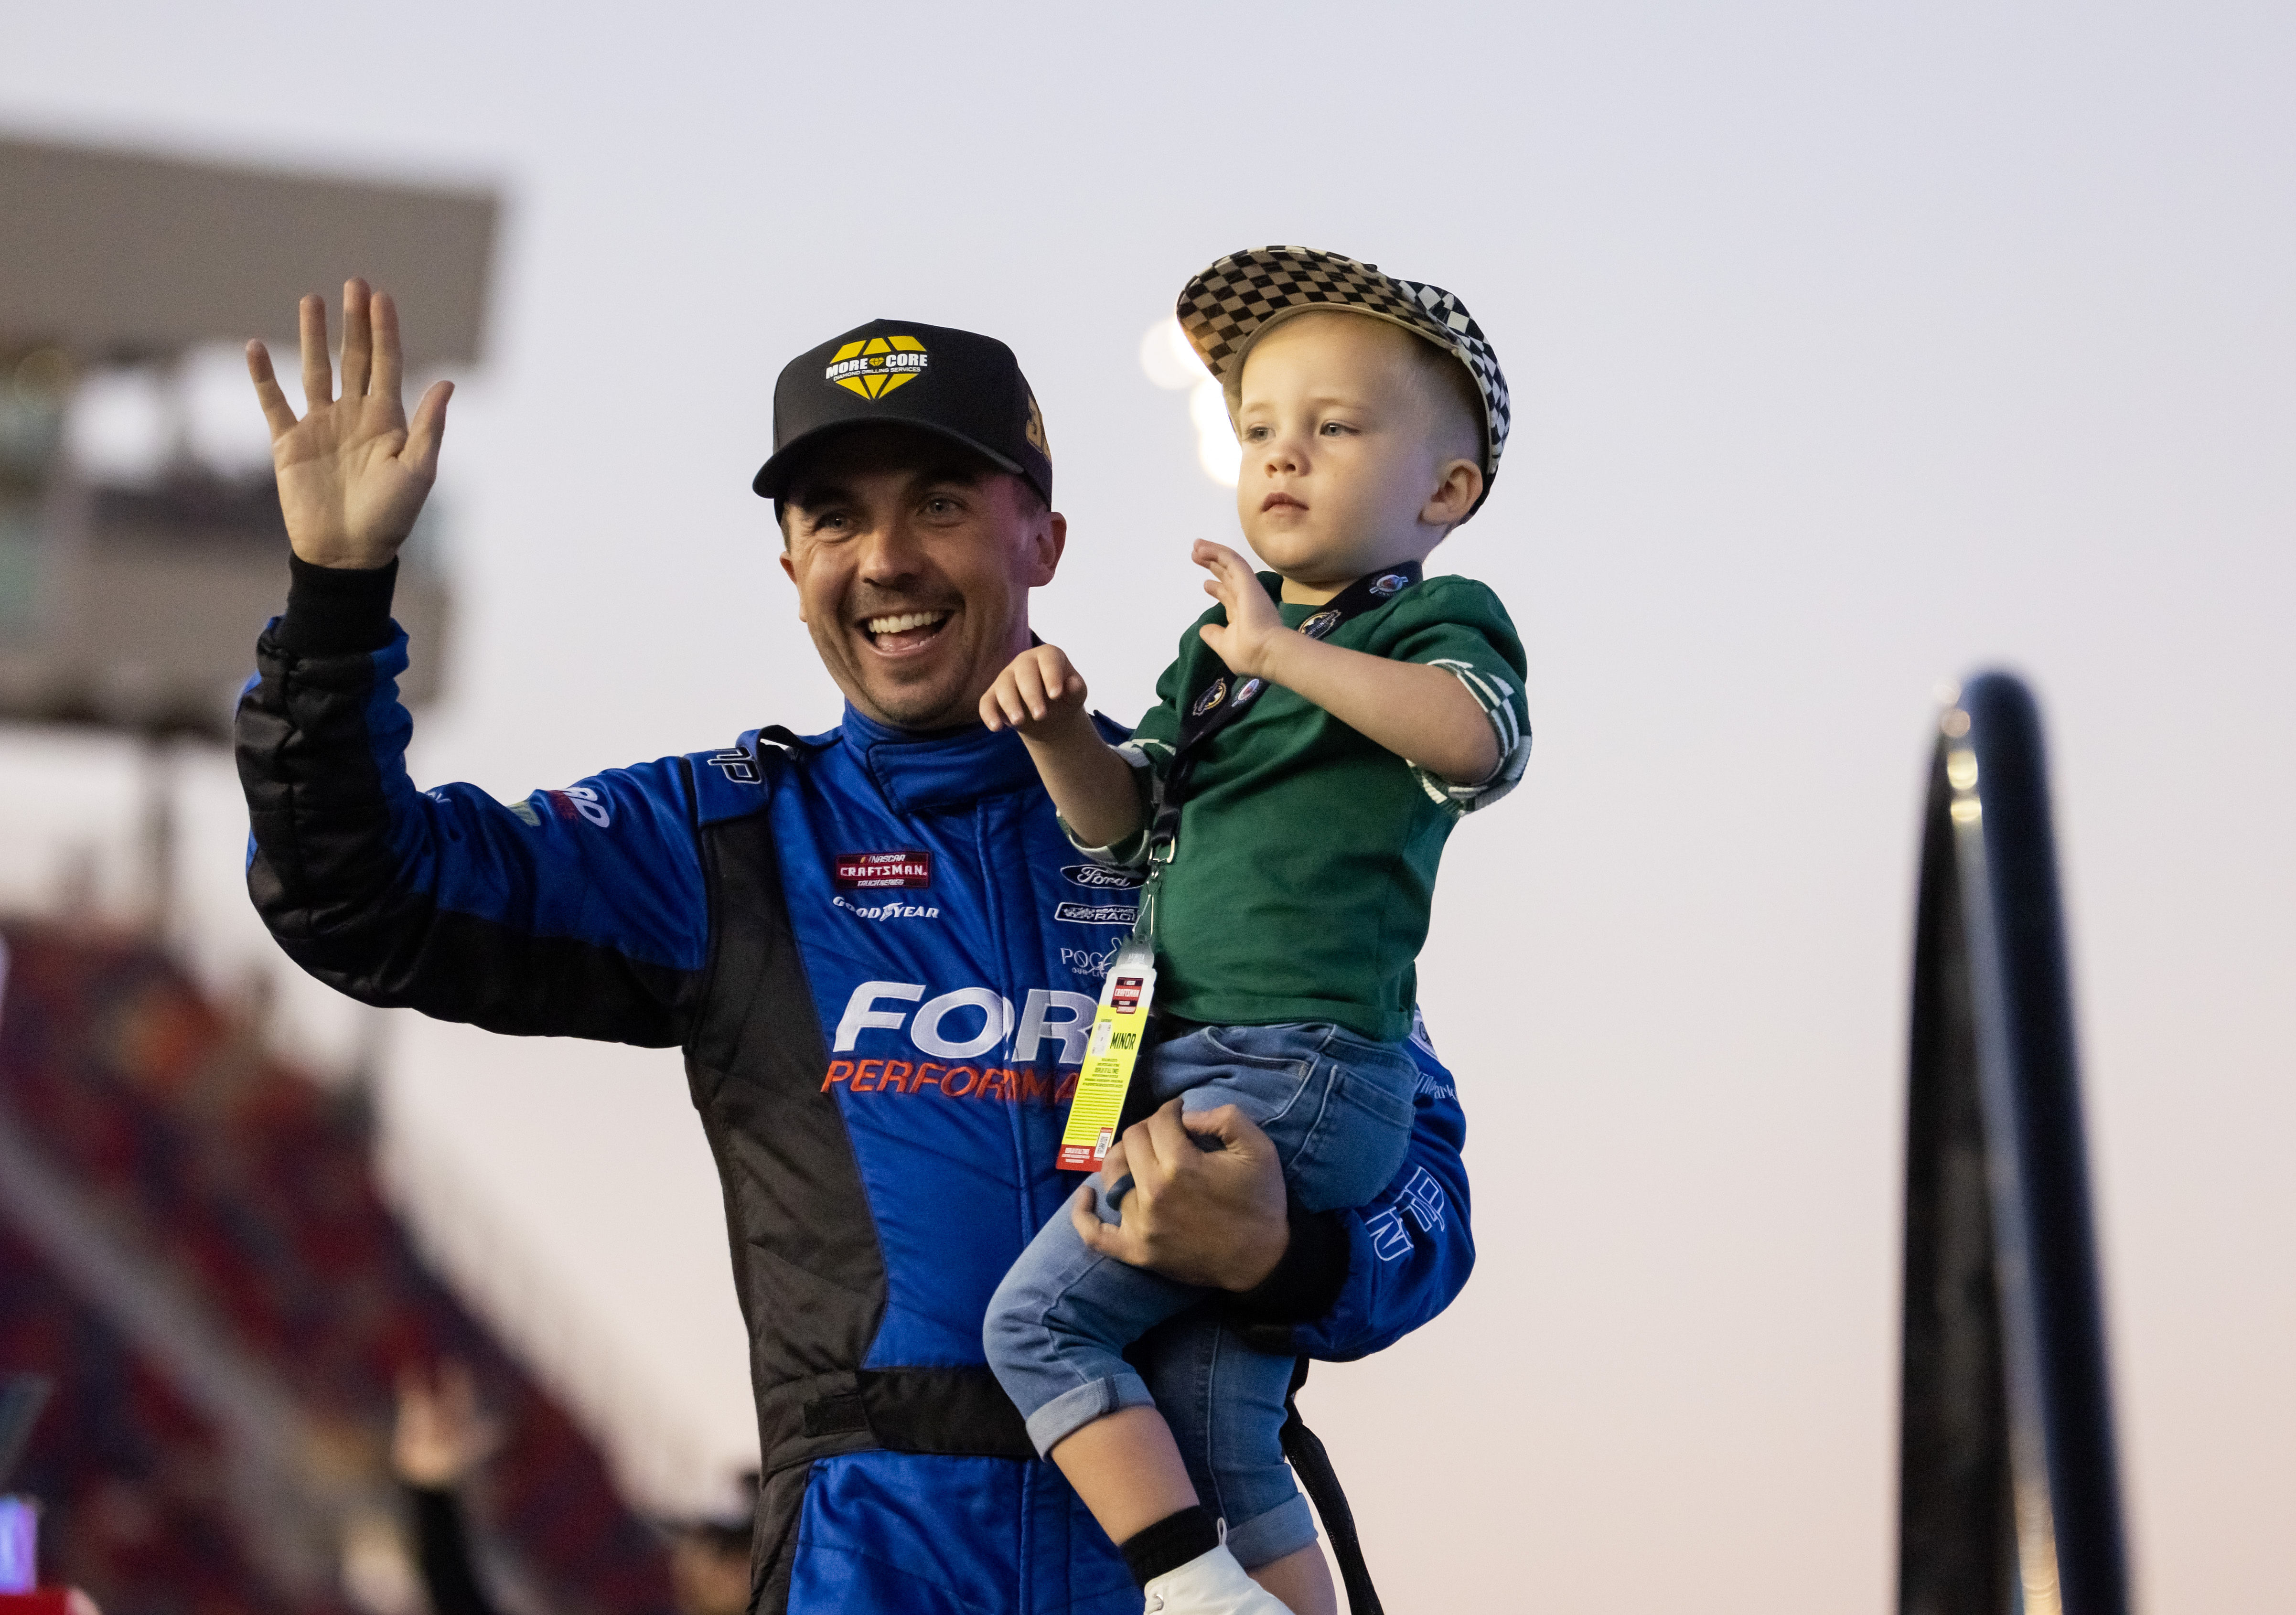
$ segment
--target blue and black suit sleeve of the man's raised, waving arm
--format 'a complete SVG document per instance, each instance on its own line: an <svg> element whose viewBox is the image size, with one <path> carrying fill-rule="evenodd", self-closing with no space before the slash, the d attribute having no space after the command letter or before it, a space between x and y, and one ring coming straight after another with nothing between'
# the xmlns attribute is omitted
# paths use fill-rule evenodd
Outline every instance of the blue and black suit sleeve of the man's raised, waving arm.
<svg viewBox="0 0 2296 1615"><path fill-rule="evenodd" d="M673 1045L707 951L682 758L503 804L416 790L397 565L294 561L234 724L248 894L319 981L489 1031Z"/></svg>

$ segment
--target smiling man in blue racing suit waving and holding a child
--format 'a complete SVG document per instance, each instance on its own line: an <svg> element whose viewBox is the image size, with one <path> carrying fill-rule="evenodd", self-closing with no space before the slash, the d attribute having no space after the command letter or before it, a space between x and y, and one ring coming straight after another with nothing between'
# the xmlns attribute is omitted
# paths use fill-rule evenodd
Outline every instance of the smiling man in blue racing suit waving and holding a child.
<svg viewBox="0 0 2296 1615"><path fill-rule="evenodd" d="M517 804L416 790L404 765L390 588L448 384L406 418L395 312L356 280L340 397L319 299L301 418L259 345L248 368L294 542L236 721L248 889L303 969L370 1004L684 1050L751 1335L753 1608L1139 1610L983 1365L1006 1268L1072 1215L1111 1257L1228 1291L1258 1344L1357 1358L1467 1277L1465 1123L1419 1038L1412 1151L1364 1208L1286 1206L1233 1112L1130 1126L1114 1229L1054 1169L1132 891L1079 864L1019 740L974 717L1065 544L1013 354L875 322L781 374L758 492L845 694L838 728L751 731ZM1320 1558L1265 1569L1295 1608L1329 1608Z"/></svg>

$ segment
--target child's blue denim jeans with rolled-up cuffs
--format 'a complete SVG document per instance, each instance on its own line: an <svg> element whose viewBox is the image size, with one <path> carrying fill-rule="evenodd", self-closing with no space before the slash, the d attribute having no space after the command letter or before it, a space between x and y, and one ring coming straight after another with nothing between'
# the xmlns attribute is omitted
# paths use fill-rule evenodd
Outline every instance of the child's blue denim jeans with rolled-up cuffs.
<svg viewBox="0 0 2296 1615"><path fill-rule="evenodd" d="M1396 1176L1412 1133L1419 1066L1401 1043L1322 1022L1201 1027L1155 1048L1134 1082L1162 1105L1235 1105L1274 1142L1306 1211L1362 1206ZM1102 1222L1116 1201L1093 1185ZM1086 1250L1065 1211L1022 1252L990 1300L983 1344L1038 1452L1118 1408L1155 1404L1205 1509L1228 1523L1249 1569L1316 1541L1279 1431L1293 1358L1254 1351L1178 1284ZM1143 1367L1125 1360L1125 1346ZM1146 1378L1143 1378L1146 1374Z"/></svg>

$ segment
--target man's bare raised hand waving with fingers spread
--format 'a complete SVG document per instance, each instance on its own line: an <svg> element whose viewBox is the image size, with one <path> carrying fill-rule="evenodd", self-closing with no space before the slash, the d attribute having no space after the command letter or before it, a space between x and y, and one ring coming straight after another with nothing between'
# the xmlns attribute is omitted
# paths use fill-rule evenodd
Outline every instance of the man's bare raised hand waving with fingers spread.
<svg viewBox="0 0 2296 1615"><path fill-rule="evenodd" d="M445 402L436 381L409 425L400 397L400 312L365 280L342 287L342 397L326 356L326 301L305 296L303 418L271 372L271 354L248 342L248 377L271 423L271 466L294 551L321 567L386 565L413 531L439 476Z"/></svg>

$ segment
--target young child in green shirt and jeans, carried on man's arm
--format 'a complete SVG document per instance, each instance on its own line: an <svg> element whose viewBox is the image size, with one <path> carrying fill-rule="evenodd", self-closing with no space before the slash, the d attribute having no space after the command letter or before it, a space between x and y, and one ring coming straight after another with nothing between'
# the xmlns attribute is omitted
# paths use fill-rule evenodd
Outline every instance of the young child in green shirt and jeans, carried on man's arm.
<svg viewBox="0 0 2296 1615"><path fill-rule="evenodd" d="M1332 253L1224 257L1180 322L1226 388L1235 510L1272 572L1194 547L1219 606L1123 747L1052 646L980 717L1019 731L1084 852L1150 871L1162 1041L1134 1082L1185 1112L1238 1105L1306 1211L1359 1206L1412 1128L1412 960L1442 843L1529 756L1497 595L1419 577L1499 469L1506 381L1456 296ZM1127 1188L1097 1190L1104 1222ZM1279 1445L1293 1358L1251 1351L1203 1298L1054 1218L990 1303L990 1365L1148 1610L1329 1610ZM1123 1351L1150 1328L1143 1378Z"/></svg>

